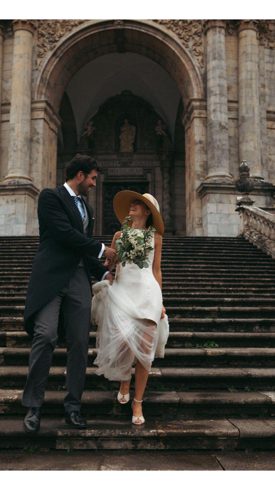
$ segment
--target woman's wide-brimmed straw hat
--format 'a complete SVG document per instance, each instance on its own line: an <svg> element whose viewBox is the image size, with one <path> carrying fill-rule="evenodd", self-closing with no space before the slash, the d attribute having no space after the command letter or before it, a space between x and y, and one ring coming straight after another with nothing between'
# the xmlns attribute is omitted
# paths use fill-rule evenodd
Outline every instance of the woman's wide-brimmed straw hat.
<svg viewBox="0 0 275 490"><path fill-rule="evenodd" d="M121 191L114 196L113 206L116 217L120 223L123 223L125 218L129 216L130 205L133 201L139 199L144 202L152 212L153 226L160 235L164 233L164 222L159 212L158 201L150 194L139 194L134 191ZM129 221L131 226L132 221Z"/></svg>

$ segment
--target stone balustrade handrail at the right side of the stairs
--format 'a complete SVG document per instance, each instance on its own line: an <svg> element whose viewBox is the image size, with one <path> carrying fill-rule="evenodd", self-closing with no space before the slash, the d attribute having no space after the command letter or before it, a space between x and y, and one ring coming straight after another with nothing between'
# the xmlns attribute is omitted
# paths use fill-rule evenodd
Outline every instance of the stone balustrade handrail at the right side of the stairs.
<svg viewBox="0 0 275 490"><path fill-rule="evenodd" d="M275 215L258 208L239 204L240 233L275 259Z"/></svg>

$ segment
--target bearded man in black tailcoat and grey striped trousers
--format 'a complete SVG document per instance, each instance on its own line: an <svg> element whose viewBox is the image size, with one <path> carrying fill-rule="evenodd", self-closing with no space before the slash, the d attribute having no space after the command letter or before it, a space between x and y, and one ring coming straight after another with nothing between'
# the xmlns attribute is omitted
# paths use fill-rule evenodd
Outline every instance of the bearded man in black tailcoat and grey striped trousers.
<svg viewBox="0 0 275 490"><path fill-rule="evenodd" d="M26 432L40 428L45 385L62 327L67 344L65 421L75 428L86 427L80 406L91 321L91 274L112 284L112 274L97 259L103 255L113 262L116 256L114 249L91 238L93 209L82 198L96 186L101 170L92 157L78 154L67 165L64 185L42 190L38 199L40 244L24 312L25 330L33 337L22 397L22 405L29 408L23 422Z"/></svg>

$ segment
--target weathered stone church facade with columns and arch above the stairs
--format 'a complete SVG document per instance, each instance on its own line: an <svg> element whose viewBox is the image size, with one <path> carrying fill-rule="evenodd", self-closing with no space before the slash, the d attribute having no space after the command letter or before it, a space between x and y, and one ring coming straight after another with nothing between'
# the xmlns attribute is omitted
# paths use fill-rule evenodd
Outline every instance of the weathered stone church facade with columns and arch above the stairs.
<svg viewBox="0 0 275 490"><path fill-rule="evenodd" d="M76 153L103 168L97 235L130 189L169 234L237 236L241 161L274 212L275 21L1 21L0 102L0 236L39 234L39 193Z"/></svg>

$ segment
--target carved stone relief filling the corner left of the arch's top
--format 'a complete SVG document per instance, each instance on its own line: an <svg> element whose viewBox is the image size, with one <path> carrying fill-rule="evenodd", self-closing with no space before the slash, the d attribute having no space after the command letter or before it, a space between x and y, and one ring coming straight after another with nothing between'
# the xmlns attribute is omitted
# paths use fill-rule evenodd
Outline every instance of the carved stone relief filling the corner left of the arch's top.
<svg viewBox="0 0 275 490"><path fill-rule="evenodd" d="M85 20L40 20L37 32L37 59L36 69L42 61L42 58L55 48L58 41L73 27L83 24Z"/></svg>

